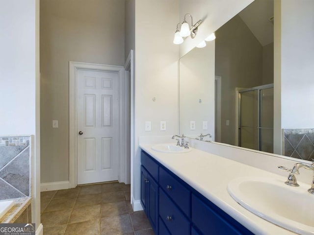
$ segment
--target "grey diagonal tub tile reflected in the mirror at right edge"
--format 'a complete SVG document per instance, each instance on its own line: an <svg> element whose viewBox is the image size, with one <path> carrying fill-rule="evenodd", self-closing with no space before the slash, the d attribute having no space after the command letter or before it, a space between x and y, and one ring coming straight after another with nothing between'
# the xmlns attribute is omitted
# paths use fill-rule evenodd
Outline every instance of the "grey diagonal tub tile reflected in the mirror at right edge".
<svg viewBox="0 0 314 235"><path fill-rule="evenodd" d="M284 155L312 161L314 158L314 129L285 129Z"/></svg>

